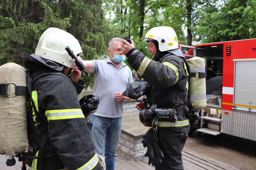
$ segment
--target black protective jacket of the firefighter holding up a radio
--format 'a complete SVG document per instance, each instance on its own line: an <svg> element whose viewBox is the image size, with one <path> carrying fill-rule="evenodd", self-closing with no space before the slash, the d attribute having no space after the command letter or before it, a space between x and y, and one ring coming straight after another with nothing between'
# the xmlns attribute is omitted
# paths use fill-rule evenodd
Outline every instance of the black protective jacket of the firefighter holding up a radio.
<svg viewBox="0 0 256 170"><path fill-rule="evenodd" d="M150 90L145 91L150 91L150 94L147 94L150 106L153 103L176 105L176 107L184 105L183 101L187 98L188 93L188 73L181 58L184 57L182 53L177 56L170 51L161 52L153 61L133 48L126 56L128 57L127 62L149 84L147 87ZM188 133L189 120L185 116L184 110L181 109L178 112L176 123L159 122L159 127Z"/></svg>

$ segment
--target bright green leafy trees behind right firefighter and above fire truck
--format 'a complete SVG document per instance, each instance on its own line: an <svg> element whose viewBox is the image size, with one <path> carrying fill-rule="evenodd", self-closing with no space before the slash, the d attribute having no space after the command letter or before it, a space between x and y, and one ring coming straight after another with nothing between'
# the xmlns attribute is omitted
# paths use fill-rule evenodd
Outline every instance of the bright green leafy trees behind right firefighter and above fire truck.
<svg viewBox="0 0 256 170"><path fill-rule="evenodd" d="M145 34L171 26L180 44L256 38L255 0L103 0L105 16L117 36L131 35L135 47L149 56Z"/></svg>

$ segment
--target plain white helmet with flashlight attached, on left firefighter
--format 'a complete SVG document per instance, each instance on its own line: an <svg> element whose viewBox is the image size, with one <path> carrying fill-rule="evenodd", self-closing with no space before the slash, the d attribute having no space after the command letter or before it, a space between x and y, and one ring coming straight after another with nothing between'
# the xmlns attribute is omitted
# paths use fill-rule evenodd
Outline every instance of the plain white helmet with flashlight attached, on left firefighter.
<svg viewBox="0 0 256 170"><path fill-rule="evenodd" d="M67 46L75 55L82 55L82 48L73 35L59 28L48 28L41 35L35 54L71 68L75 60L68 55Z"/></svg>

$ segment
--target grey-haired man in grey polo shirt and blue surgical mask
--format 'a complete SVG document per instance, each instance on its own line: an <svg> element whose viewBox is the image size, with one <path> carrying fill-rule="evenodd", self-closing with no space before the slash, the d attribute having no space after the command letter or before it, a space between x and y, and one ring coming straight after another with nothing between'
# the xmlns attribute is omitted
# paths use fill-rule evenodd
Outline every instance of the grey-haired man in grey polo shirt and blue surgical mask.
<svg viewBox="0 0 256 170"><path fill-rule="evenodd" d="M123 63L125 55L121 52L121 38L113 38L108 43L106 60L82 61L87 73L94 73L94 96L100 96L98 110L90 117L92 141L97 154L106 157L107 170L114 170L116 152L121 133L124 100L122 95L132 83L132 71ZM105 151L104 151L105 146Z"/></svg>

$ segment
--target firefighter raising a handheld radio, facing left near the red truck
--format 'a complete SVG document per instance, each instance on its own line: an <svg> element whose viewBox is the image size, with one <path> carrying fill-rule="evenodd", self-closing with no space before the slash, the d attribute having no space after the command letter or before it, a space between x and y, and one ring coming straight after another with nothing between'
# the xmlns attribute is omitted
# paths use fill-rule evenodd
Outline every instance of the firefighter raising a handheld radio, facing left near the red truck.
<svg viewBox="0 0 256 170"><path fill-rule="evenodd" d="M184 99L187 98L188 92L188 74L181 58L184 55L178 49L177 35L171 27L167 26L150 29L146 33L144 42L149 45L148 51L153 56L152 60L136 50L133 41L131 44L125 40L122 42L121 50L128 57L127 62L134 70L137 70L138 75L151 88L150 94L147 94L147 106L144 102L140 102L135 107L141 110L157 104L164 108L176 108L178 111L177 122L158 121L156 123L153 121L157 127L155 132L158 139L158 142L156 140L154 142L156 141L159 148L147 145L148 151L145 156L149 156L149 164L154 164L157 170L183 169L181 151L190 127L189 119L184 113ZM148 133L150 132L145 134L143 144L149 144ZM150 149L155 149L154 158L149 154Z"/></svg>

